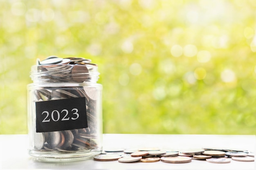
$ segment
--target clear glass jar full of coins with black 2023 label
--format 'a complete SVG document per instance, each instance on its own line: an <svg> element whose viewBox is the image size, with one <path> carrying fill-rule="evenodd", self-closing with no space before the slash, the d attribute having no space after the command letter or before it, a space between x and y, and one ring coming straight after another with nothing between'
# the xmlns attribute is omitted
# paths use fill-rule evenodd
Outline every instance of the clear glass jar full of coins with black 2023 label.
<svg viewBox="0 0 256 170"><path fill-rule="evenodd" d="M29 155L41 161L89 159L102 151L102 86L97 64L48 57L31 67Z"/></svg>

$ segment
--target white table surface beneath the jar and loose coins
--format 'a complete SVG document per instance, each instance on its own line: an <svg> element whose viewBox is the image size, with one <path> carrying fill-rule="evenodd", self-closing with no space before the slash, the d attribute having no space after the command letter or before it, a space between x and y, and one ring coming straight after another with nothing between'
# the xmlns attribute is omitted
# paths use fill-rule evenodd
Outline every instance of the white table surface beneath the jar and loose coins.
<svg viewBox="0 0 256 170"><path fill-rule="evenodd" d="M0 135L0 169L84 169L84 170L255 170L254 162L233 161L230 163L210 163L192 160L190 163L120 163L101 162L93 159L74 162L40 162L28 155L27 135ZM161 149L187 148L228 148L255 152L255 135L141 135L141 134L103 134L104 148L141 148L158 147Z"/></svg>

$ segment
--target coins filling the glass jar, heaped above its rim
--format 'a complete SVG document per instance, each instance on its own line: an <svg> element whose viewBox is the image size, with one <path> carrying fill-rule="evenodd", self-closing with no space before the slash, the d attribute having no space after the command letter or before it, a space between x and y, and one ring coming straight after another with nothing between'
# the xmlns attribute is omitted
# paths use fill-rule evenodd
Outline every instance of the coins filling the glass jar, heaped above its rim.
<svg viewBox="0 0 256 170"><path fill-rule="evenodd" d="M41 82L75 82L90 81L90 71L97 64L90 59L50 56L40 62L37 60L36 76ZM34 90L34 102L85 97L88 128L62 130L54 132L34 132L34 150L73 152L78 150L99 149L97 144L97 89L86 86L46 86ZM35 131L35 130L34 130Z"/></svg>

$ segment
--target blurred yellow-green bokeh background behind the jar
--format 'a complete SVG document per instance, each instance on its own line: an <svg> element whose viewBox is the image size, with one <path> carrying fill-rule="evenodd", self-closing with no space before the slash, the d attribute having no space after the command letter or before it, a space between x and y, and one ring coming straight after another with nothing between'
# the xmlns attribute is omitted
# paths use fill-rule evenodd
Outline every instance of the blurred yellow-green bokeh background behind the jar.
<svg viewBox="0 0 256 170"><path fill-rule="evenodd" d="M255 0L0 0L0 134L36 59L99 65L103 132L255 134Z"/></svg>

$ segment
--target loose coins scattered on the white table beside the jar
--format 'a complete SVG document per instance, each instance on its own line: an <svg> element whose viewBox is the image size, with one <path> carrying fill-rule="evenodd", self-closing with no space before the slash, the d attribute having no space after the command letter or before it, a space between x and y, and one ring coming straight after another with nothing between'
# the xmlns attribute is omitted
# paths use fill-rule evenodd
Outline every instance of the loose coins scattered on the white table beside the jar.
<svg viewBox="0 0 256 170"><path fill-rule="evenodd" d="M104 150L101 155L94 157L95 161L119 161L119 162L157 162L188 163L192 160L206 160L211 163L229 163L235 161L254 161L254 153L240 152L238 150L187 149L175 152L166 152L159 148L138 149L112 149ZM247 152L247 153L246 153ZM111 156L111 159L109 159ZM230 159L231 158L231 159Z"/></svg>

